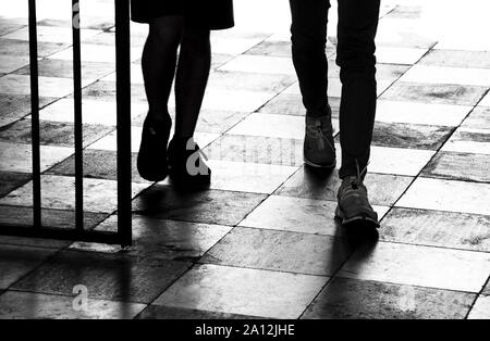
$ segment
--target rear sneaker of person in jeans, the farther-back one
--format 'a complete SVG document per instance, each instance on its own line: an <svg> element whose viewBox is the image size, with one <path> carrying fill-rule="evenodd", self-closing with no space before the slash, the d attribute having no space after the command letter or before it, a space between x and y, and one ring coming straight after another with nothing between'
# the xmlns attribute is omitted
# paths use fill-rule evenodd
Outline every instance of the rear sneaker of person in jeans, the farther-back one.
<svg viewBox="0 0 490 341"><path fill-rule="evenodd" d="M335 147L331 116L306 116L305 164L315 168L335 167Z"/></svg>

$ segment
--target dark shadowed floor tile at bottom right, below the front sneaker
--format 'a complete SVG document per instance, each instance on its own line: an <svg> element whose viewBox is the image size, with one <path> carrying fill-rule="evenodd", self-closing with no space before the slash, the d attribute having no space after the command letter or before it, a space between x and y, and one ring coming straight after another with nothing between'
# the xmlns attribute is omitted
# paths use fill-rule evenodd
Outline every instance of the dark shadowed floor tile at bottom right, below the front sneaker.
<svg viewBox="0 0 490 341"><path fill-rule="evenodd" d="M303 315L306 319L463 319L474 294L335 278Z"/></svg>

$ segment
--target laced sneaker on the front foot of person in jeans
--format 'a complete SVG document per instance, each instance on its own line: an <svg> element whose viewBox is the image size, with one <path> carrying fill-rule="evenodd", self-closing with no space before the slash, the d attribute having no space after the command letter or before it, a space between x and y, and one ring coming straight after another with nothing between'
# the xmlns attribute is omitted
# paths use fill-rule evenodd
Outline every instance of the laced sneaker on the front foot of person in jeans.
<svg viewBox="0 0 490 341"><path fill-rule="evenodd" d="M378 214L369 204L366 186L359 176L346 177L339 189L335 218L342 226L379 228Z"/></svg>

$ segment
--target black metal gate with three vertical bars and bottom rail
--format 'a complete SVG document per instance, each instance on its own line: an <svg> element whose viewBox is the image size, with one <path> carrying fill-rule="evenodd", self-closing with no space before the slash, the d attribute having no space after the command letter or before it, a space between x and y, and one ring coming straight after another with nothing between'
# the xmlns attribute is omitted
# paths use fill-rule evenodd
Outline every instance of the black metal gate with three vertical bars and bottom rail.
<svg viewBox="0 0 490 341"><path fill-rule="evenodd" d="M29 61L33 144L33 226L2 226L0 235L33 237L108 244L132 244L132 167L131 167L131 58L130 0L114 0L115 5L115 74L117 74L117 134L118 134L118 231L106 232L84 228L84 169L82 123L82 56L79 0L73 4L73 83L75 113L75 228L56 229L42 226L41 172L39 131L39 81L37 53L36 0L28 1Z"/></svg>

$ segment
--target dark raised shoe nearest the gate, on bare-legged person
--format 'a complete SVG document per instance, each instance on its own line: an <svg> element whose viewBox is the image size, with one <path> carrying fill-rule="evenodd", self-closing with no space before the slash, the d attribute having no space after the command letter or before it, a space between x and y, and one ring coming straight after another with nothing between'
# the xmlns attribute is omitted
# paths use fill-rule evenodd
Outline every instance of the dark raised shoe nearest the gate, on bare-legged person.
<svg viewBox="0 0 490 341"><path fill-rule="evenodd" d="M167 144L171 126L170 116L162 122L145 119L137 160L139 175L145 180L162 181L169 175Z"/></svg>

